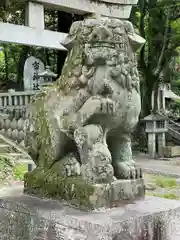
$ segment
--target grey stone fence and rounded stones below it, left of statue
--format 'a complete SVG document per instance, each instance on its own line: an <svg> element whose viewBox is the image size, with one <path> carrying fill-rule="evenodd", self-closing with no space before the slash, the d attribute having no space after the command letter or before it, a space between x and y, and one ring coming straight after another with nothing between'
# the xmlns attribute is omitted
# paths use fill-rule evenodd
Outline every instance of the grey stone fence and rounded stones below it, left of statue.
<svg viewBox="0 0 180 240"><path fill-rule="evenodd" d="M27 107L38 91L0 93L0 134L24 145L24 129L28 122Z"/></svg>

